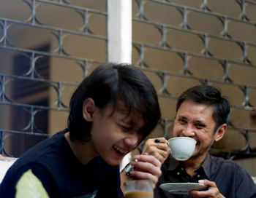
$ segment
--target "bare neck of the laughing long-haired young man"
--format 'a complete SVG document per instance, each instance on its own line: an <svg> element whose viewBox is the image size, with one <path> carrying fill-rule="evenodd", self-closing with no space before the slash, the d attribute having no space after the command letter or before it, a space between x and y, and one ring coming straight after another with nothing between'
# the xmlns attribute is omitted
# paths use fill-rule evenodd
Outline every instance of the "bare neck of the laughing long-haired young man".
<svg viewBox="0 0 256 198"><path fill-rule="evenodd" d="M66 132L64 136L67 139L73 154L75 154L75 157L77 157L83 165L86 165L91 159L97 157L98 154L94 151L94 146L92 145L91 140L85 143L82 143L79 140L72 141L69 132Z"/></svg>

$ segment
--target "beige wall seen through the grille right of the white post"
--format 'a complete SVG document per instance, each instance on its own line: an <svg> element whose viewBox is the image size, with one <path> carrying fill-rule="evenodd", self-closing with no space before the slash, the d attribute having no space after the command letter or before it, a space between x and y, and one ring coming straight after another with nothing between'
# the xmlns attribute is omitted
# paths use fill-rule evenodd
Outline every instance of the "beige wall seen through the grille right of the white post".
<svg viewBox="0 0 256 198"><path fill-rule="evenodd" d="M185 5L200 9L202 1L171 1L174 4ZM239 17L241 9L235 1L208 1L208 6L213 12L217 12L220 15L229 15L231 17ZM256 19L255 6L247 5L246 15L251 20ZM139 9L134 1L133 9L134 17L138 17ZM162 4L154 2L147 2L144 5L145 16L154 21L154 23L165 23L166 25L175 26L177 29L182 25L182 17L180 12L174 7L167 7ZM187 21L189 26L198 32L206 32L211 35L221 36L223 33L223 25L221 21L212 15L205 15L200 12L189 12L187 15ZM229 21L228 33L233 39L246 40L255 43L255 27L253 25L246 25L238 23L236 21ZM195 54L203 54L203 41L196 34L189 33L186 31L169 29L166 32L166 41L172 49L184 50L187 52L193 52ZM161 33L155 28L154 25L148 23L142 23L135 21L133 23L133 39L138 43L146 43L150 45L161 44ZM176 74L183 74L183 61L176 52L170 52L166 49L152 49L150 47L145 48L144 61L149 68L160 69L168 71L171 74L167 76L167 90L175 97L181 94L188 87L192 87L196 84L200 84L197 79L189 79L178 76ZM221 39L209 39L208 50L215 58L224 58L227 60L233 60L241 62L243 58L243 51L241 47L233 41L225 41ZM256 47L248 47L247 54L249 60L253 64L256 64L255 60ZM139 54L136 50L133 52L133 63L139 63ZM217 60L210 58L191 57L188 60L189 71L194 76L206 77L208 79L214 79L217 81L223 81L224 70ZM230 100L233 106L242 106L244 103L244 94L239 88L238 84L249 84L252 86L256 85L256 69L255 67L247 67L238 64L228 65L229 76L233 80L234 84L222 84L218 82L211 82L211 85L219 87L222 90L222 95ZM154 83L156 89L162 91L162 82L154 73L146 72L148 77ZM175 74L175 75L172 75ZM249 89L249 101L255 106L256 90ZM175 116L176 100L170 98L159 98L162 116L165 119L173 119ZM252 119L252 114L255 111L249 111L249 109L232 108L230 113L230 122L236 127L249 128L252 130L256 129L255 121ZM169 137L172 135L172 127L168 130ZM156 129L151 137L157 137L162 133L162 128ZM256 133L249 132L250 146L256 148ZM218 143L214 144L215 147L224 150L241 150L246 146L246 140L241 131L238 130L227 130L225 137ZM246 167L251 175L256 175L256 168L254 166L255 158L238 160L241 165Z"/></svg>

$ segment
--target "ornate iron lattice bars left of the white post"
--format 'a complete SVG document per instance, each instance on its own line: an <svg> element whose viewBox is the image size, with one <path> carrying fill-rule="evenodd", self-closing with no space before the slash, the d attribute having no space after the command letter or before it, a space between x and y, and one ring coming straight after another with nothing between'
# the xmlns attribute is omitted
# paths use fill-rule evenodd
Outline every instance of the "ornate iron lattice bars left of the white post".
<svg viewBox="0 0 256 198"><path fill-rule="evenodd" d="M11 52L15 55L21 55L27 59L27 62L29 62L29 68L26 68L26 70L23 71L23 73L20 73L18 75L15 75L14 73L10 72L10 74L2 72L0 74L0 106L4 110L4 107L10 108L8 111L11 111L11 115L9 119L12 119L12 115L16 114L12 111L13 108L17 107L20 111L24 111L26 113L23 113L22 115L29 116L29 119L26 119L25 126L20 127L12 127L13 124L10 124L9 126L5 126L4 123L1 124L1 130L0 130L0 154L5 154L7 156L12 156L10 152L7 151L5 148L5 145L8 143L7 141L14 136L14 135L26 135L26 136L43 136L43 137L49 137L50 134L48 134L48 131L42 131L39 130L39 128L36 126L35 118L41 111L68 111L68 105L64 103L63 101L63 92L64 90L67 90L67 87L76 87L78 85L78 81L76 82L64 82L64 81L56 81L54 79L50 79L48 77L43 76L39 73L39 61L43 58L50 58L52 60L53 58L58 58L60 60L67 60L70 63L73 63L73 66L78 66L80 68L80 73L82 74L80 76L80 79L83 79L83 76L86 76L88 74L89 68L93 68L94 66L97 66L102 63L106 63L106 60L102 58L102 60L92 60L90 58L81 57L77 54L71 55L65 47L66 39L68 36L80 36L80 38L91 38L95 41L99 40L103 43L107 43L107 36L106 36L106 30L102 31L103 33L97 33L91 30L91 26L89 23L91 22L90 17L97 16L97 17L104 17L105 23L106 23L106 17L107 12L105 10L99 11L97 9L91 9L89 7L84 7L82 5L75 5L71 4L69 1L48 1L48 0L24 0L24 1L17 1L18 5L23 6L25 9L29 10L26 12L29 12L29 16L25 20L18 20L12 19L11 17L0 17L0 50L1 52ZM102 1L103 4L105 4L104 1ZM26 6L24 6L26 4ZM7 4L1 5L1 7L7 6ZM12 4L9 9L12 9L17 6L15 3ZM81 21L80 27L73 30L71 28L59 28L56 27L56 25L52 25L49 21L46 23L43 23L38 15L39 15L39 9L45 9L44 15L50 15L48 13L48 9L50 7L55 7L55 9L64 9L65 12L74 12L76 13L76 17ZM61 18L60 18L61 19ZM64 20L64 17L62 16L62 19ZM60 21L61 22L61 21ZM14 44L10 38L12 36L12 28L19 27L20 31L22 33L26 33L26 29L32 28L39 31L44 31L48 34L48 36L52 36L53 43L56 43L55 49L51 49L50 51L45 50L34 50L27 47L20 47L18 44ZM106 25L105 25L106 27ZM34 35L34 36L37 36ZM18 37L18 36L17 36ZM31 39L31 38L29 38ZM52 39L52 38L51 38ZM33 41L29 42L32 43ZM26 45L25 45L26 46ZM66 44L67 46L67 44ZM106 54L106 47L104 50L105 56ZM21 63L18 63L17 68L22 66ZM1 68L11 68L12 65L2 65ZM53 66L54 67L54 66ZM68 71L67 71L68 72ZM23 89L29 89L29 84L32 84L34 82L37 83L37 87L34 87L34 89L39 89L40 87L46 87L48 90L53 91L53 95L56 95L55 101L53 101L52 104L48 105L37 105L33 102L28 101L20 101L17 98L12 98L12 86L15 86L14 81L18 81L16 84L27 84L26 87L23 87ZM25 82L25 83L23 83ZM35 84L35 83L34 83ZM43 85L42 85L43 84ZM8 89L8 90L7 90ZM22 89L22 87L21 87ZM49 92L49 91L48 91ZM35 92L34 92L35 94ZM42 95L45 93L42 92ZM42 97L39 96L39 98ZM27 95L26 100L29 100L28 98L33 98L33 93L31 95ZM44 97L44 96L43 96ZM47 93L46 98L49 97L49 93ZM1 116L4 116L4 113L1 114ZM39 118L38 118L39 119ZM6 128L4 128L6 127ZM13 130L12 128L15 128ZM14 143L13 141L10 141L10 143ZM11 149L12 150L12 149ZM18 157L18 156L15 156Z"/></svg>

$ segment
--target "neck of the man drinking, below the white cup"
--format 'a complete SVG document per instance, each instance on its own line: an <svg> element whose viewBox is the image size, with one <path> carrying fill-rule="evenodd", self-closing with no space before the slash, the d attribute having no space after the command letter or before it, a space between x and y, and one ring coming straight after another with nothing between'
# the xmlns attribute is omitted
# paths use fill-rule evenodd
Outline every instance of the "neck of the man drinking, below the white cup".
<svg viewBox="0 0 256 198"><path fill-rule="evenodd" d="M193 177L195 175L195 170L197 170L203 164L203 161L206 159L206 156L207 153L198 157L191 157L187 161L182 162L186 169L187 174Z"/></svg>

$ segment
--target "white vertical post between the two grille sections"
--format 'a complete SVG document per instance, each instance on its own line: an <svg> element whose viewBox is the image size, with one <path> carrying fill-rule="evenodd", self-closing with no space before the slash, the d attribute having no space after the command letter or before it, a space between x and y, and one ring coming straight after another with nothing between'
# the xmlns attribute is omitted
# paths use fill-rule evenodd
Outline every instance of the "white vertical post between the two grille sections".
<svg viewBox="0 0 256 198"><path fill-rule="evenodd" d="M131 0L108 0L108 62L132 62Z"/></svg>

